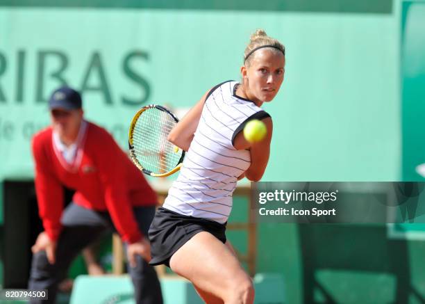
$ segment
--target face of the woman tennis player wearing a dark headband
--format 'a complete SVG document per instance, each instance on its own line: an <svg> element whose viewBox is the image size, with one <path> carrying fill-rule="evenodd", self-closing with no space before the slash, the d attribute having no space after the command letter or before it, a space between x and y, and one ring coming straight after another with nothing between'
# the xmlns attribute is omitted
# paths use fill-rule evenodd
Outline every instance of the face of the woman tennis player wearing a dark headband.
<svg viewBox="0 0 425 304"><path fill-rule="evenodd" d="M247 97L254 102L269 102L278 93L285 74L285 56L281 51L259 49L251 56L249 67L242 67Z"/></svg>

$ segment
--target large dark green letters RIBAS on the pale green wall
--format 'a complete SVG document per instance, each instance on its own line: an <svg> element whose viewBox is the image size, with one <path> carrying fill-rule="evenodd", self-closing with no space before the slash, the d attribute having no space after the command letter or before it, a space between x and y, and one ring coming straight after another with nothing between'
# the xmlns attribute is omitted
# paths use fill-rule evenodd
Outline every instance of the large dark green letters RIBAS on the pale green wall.
<svg viewBox="0 0 425 304"><path fill-rule="evenodd" d="M35 65L28 64L28 59L35 58ZM76 60L72 58L72 60ZM47 92L46 83L55 83L57 86L69 84L85 92L98 92L107 106L114 103L121 103L124 106L140 106L149 99L151 94L151 86L147 79L142 75L140 69L136 69L135 65L138 61L149 61L149 54L146 51L133 50L128 51L122 57L121 65L122 74L116 77L124 77L131 81L133 85L138 87L138 93L133 97L128 97L128 92L122 92L119 100L113 100L111 94L111 75L105 68L105 62L110 61L104 58L101 52L92 51L88 58L78 58L78 61L85 62L85 68L81 70L81 76L69 79L67 73L72 65L69 54L63 50L39 50L35 54L30 51L20 49L15 56L6 56L0 50L0 104L6 102L16 102L17 104L24 101L33 101L37 103L47 102L50 92ZM33 70L35 67L35 70ZM6 77L15 74L13 83L13 93L6 91L4 84ZM35 76L35 78L33 78ZM28 92L24 88L27 81L34 81L35 92ZM9 88L10 89L10 88ZM119 88L115 88L119 90Z"/></svg>

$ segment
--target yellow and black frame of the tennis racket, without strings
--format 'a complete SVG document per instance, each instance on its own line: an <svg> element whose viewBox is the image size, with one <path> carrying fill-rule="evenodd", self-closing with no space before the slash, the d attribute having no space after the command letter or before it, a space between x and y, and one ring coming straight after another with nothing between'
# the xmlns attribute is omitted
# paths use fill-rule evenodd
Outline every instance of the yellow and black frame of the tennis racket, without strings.
<svg viewBox="0 0 425 304"><path fill-rule="evenodd" d="M134 128L135 128L136 123L138 122L138 119L140 118L140 115L142 115L142 113L144 111L147 111L147 109L153 109L153 108L159 109L160 111L165 111L166 113L168 113L169 115L172 116L172 118L174 119L175 122L178 122L178 118L176 117L176 115L174 115L174 113L172 113L172 111L169 111L164 106L159 106L158 104L149 104L147 106L144 106L137 113L135 113L133 119L131 120L130 129L128 129L128 149L130 150L131 160L133 161L135 166L138 167L139 170L141 170L144 174L147 174L147 175L150 175L150 176L153 176L153 177L167 177L169 175L176 173L178 170L180 170L180 168L183 164L183 159L185 157L185 151L184 150L182 150L181 158L179 159L177 166L174 167L172 170L169 170L166 173L153 173L153 172L145 169L142 166L142 164L138 161L138 158L135 154L135 149L134 149L134 146L133 146ZM178 149L180 149L180 148L178 148Z"/></svg>

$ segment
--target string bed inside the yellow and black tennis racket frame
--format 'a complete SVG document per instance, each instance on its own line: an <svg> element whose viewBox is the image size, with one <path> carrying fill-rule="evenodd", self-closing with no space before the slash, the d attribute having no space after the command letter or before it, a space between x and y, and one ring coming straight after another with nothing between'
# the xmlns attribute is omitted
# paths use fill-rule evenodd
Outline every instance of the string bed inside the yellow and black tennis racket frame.
<svg viewBox="0 0 425 304"><path fill-rule="evenodd" d="M144 111L133 129L133 147L137 160L152 173L167 173L176 167L182 151L175 151L174 144L167 141L176 122L172 115L160 109Z"/></svg>

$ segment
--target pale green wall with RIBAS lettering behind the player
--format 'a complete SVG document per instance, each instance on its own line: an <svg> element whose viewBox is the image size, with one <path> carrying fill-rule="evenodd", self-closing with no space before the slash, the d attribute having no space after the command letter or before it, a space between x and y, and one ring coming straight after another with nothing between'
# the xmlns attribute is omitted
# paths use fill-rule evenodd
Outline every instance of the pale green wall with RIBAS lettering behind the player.
<svg viewBox="0 0 425 304"><path fill-rule="evenodd" d="M275 131L264 179L397 180L398 24L395 9L3 7L0 179L32 175L29 140L47 125L45 100L61 81L83 89L88 118L124 146L142 104L189 107L215 83L239 79L249 34L264 28L288 50L281 92L265 106Z"/></svg>

